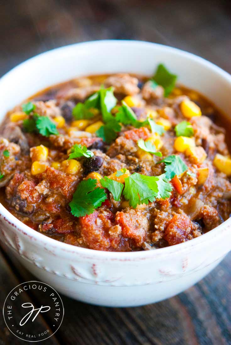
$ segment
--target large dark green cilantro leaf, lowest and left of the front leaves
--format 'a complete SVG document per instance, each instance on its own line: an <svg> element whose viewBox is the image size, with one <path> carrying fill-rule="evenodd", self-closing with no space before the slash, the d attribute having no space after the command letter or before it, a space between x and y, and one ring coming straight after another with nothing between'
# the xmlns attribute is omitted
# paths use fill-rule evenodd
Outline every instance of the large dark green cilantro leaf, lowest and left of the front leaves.
<svg viewBox="0 0 231 345"><path fill-rule="evenodd" d="M75 217L90 215L107 199L103 188L95 188L97 180L87 179L79 183L69 206Z"/></svg>

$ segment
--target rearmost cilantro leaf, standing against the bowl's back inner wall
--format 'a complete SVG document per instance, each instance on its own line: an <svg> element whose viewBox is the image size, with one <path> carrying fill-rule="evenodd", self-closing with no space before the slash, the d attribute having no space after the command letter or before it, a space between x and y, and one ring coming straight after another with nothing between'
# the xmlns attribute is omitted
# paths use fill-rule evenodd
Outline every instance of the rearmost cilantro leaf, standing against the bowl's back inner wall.
<svg viewBox="0 0 231 345"><path fill-rule="evenodd" d="M165 97L169 96L170 92L174 89L176 79L177 76L170 73L162 63L157 66L155 75L152 77L152 80L158 85L163 86Z"/></svg>

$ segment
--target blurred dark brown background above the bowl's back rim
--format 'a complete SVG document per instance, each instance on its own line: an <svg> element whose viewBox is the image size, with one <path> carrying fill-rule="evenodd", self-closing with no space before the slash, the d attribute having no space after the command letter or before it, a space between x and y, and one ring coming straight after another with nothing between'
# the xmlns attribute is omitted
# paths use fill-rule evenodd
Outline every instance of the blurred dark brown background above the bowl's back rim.
<svg viewBox="0 0 231 345"><path fill-rule="evenodd" d="M43 51L98 39L162 43L231 72L231 1L0 1L0 76Z"/></svg>

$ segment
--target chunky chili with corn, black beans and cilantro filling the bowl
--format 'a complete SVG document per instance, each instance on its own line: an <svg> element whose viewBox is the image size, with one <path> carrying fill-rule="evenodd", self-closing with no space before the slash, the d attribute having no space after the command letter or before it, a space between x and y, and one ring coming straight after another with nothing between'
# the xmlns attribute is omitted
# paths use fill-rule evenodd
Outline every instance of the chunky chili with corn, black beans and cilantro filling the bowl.
<svg viewBox="0 0 231 345"><path fill-rule="evenodd" d="M0 127L1 203L42 234L97 250L171 246L221 224L225 117L176 78L164 65L151 78L81 77L16 106Z"/></svg>

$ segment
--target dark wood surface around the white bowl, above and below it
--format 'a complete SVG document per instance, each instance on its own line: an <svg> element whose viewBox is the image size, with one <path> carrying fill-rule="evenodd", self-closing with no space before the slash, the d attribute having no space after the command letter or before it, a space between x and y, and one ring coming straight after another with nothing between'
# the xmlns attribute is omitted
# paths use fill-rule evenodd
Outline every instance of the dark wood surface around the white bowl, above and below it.
<svg viewBox="0 0 231 345"><path fill-rule="evenodd" d="M191 51L231 72L231 1L18 0L0 2L0 76L42 51L95 39L141 39ZM23 81L22 81L23 82ZM215 250L215 248L214 248ZM0 306L33 280L0 249ZM136 308L91 306L62 296L65 317L42 344L228 345L231 254L185 292ZM36 294L33 302L37 303ZM40 319L47 327L50 320ZM0 317L0 345L23 344Z"/></svg>

